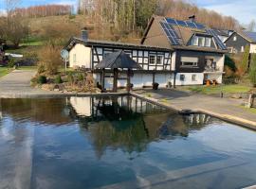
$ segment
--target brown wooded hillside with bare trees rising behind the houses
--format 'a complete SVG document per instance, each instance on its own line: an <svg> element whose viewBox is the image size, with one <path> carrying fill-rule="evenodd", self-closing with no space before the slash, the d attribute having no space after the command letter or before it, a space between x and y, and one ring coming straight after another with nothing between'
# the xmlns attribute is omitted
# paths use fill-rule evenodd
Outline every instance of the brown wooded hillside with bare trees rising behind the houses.
<svg viewBox="0 0 256 189"><path fill-rule="evenodd" d="M66 42L71 36L78 36L82 27L89 29L93 39L137 43L152 15L180 20L195 15L197 22L210 27L241 28L234 18L200 9L186 0L80 0L77 11L68 5L20 8L22 0L5 2L7 16L0 18L0 38L15 46L31 36L43 40L63 36L62 42Z"/></svg>

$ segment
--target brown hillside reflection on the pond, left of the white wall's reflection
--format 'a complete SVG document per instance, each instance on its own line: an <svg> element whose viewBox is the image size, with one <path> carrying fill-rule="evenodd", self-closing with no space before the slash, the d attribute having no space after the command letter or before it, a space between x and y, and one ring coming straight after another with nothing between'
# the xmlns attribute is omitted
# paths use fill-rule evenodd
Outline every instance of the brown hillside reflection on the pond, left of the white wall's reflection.
<svg viewBox="0 0 256 189"><path fill-rule="evenodd" d="M0 107L2 107L3 114L17 121L30 119L34 122L57 126L71 121L65 98L0 99Z"/></svg>

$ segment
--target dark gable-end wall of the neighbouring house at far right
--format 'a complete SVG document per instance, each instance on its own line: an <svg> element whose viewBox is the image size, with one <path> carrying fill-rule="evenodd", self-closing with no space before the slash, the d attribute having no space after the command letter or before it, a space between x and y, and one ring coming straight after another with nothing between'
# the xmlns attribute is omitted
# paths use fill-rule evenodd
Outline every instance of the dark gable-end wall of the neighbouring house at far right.
<svg viewBox="0 0 256 189"><path fill-rule="evenodd" d="M234 41L234 37L236 37L236 41ZM226 41L226 46L228 47L228 49L232 49L232 51L230 53L239 53L241 52L242 46L244 46L244 48L246 48L247 45L250 45L250 43L243 38L241 35L237 34L236 32L234 32L228 39L228 41Z"/></svg>

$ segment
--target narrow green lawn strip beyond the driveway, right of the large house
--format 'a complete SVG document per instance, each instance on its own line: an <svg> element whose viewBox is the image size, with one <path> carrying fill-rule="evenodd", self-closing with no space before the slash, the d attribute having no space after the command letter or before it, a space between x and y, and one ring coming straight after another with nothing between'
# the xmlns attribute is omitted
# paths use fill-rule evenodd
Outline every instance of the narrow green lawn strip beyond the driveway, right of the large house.
<svg viewBox="0 0 256 189"><path fill-rule="evenodd" d="M189 90L192 92L197 92L201 94L220 94L221 92L225 94L232 94L232 93L247 93L251 90L251 87L246 85L216 85L216 86L191 86L191 87L184 87L185 90Z"/></svg>

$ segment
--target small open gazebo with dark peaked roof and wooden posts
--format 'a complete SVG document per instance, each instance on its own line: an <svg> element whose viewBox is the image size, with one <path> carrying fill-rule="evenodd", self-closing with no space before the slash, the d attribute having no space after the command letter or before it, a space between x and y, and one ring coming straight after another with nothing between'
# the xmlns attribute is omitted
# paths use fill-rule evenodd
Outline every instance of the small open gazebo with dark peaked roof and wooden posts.
<svg viewBox="0 0 256 189"><path fill-rule="evenodd" d="M108 54L99 64L96 65L96 69L101 69L101 87L104 89L105 72L106 69L112 70L113 76L113 92L118 92L118 80L119 80L119 69L127 70L127 91L131 90L131 74L133 69L142 69L140 65L132 60L129 55L123 51L114 52Z"/></svg>

